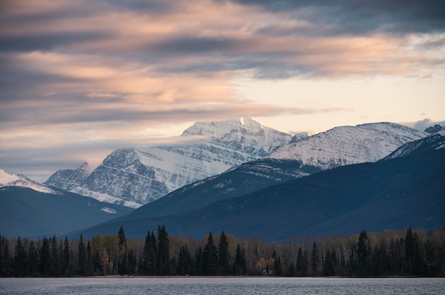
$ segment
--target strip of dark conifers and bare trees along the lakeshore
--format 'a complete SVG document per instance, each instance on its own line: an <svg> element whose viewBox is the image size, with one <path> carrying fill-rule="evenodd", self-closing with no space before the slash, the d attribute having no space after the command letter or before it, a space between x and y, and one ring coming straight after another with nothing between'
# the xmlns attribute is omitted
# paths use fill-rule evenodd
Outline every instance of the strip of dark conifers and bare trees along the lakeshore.
<svg viewBox="0 0 445 295"><path fill-rule="evenodd" d="M445 227L299 236L286 243L224 231L200 240L169 236L165 226L149 230L145 240L127 239L122 227L90 240L0 235L0 277L107 275L445 277Z"/></svg>

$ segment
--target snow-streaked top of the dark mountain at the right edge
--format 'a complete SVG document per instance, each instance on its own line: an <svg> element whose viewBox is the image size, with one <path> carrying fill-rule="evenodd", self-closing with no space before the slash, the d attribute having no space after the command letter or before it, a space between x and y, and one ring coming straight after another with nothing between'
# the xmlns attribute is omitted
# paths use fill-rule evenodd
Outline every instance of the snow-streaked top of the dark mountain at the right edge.
<svg viewBox="0 0 445 295"><path fill-rule="evenodd" d="M411 143L402 145L390 155L384 157L381 161L393 159L395 157L404 157L416 152L425 152L429 150L439 150L445 147L445 132L434 133L426 138L415 140Z"/></svg>

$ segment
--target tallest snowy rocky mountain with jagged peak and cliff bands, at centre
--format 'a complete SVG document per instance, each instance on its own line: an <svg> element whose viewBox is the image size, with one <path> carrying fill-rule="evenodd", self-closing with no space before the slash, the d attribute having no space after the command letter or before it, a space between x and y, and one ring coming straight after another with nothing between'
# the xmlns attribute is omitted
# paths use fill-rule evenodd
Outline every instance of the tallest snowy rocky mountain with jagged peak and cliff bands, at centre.
<svg viewBox="0 0 445 295"><path fill-rule="evenodd" d="M71 186L72 172L56 172L45 184L136 208L186 184L264 157L289 143L292 135L252 118L237 118L196 122L173 139L170 145L114 150L77 187Z"/></svg>

